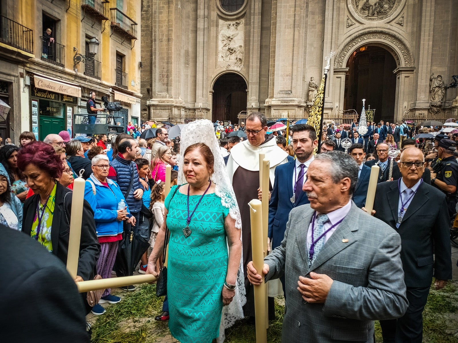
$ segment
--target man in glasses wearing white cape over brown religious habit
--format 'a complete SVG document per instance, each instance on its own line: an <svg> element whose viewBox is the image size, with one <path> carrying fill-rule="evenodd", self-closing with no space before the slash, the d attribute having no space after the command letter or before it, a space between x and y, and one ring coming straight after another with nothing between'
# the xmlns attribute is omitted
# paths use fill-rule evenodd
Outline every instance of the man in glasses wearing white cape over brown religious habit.
<svg viewBox="0 0 458 343"><path fill-rule="evenodd" d="M274 184L275 168L286 163L288 154L277 145L273 134L267 135L267 119L260 112L252 112L246 118L245 133L247 140L230 150L227 163L229 179L234 187L242 219L243 267L245 271L246 304L245 316L254 317L254 289L247 279L246 265L252 258L251 220L248 203L258 198L259 154L265 154L270 161L270 185ZM269 188L271 188L270 186ZM273 298L269 298L269 318L274 319Z"/></svg>

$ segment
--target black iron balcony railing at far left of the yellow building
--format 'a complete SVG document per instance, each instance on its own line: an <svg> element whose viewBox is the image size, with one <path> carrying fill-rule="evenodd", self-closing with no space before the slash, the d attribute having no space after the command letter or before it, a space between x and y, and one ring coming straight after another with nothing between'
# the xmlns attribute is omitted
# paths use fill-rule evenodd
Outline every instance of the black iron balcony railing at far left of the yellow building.
<svg viewBox="0 0 458 343"><path fill-rule="evenodd" d="M0 16L0 42L33 54L33 30Z"/></svg>

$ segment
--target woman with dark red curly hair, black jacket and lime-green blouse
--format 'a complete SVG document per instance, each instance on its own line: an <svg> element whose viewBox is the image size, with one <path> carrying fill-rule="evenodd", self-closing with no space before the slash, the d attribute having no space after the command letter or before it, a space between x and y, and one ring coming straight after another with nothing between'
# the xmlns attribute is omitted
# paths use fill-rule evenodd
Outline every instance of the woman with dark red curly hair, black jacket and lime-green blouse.
<svg viewBox="0 0 458 343"><path fill-rule="evenodd" d="M22 231L66 264L73 193L57 182L63 172L60 156L55 154L52 145L31 142L19 150L17 166L27 185L35 193L24 203ZM94 213L84 200L80 258L75 281L94 277L99 254L100 245L95 232ZM87 310L88 313L90 308Z"/></svg>

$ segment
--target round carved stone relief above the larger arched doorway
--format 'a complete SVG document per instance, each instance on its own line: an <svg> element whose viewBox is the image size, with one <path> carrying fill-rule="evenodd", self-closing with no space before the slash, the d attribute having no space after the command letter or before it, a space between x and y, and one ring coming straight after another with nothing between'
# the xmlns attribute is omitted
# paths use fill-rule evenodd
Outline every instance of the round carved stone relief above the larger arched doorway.
<svg viewBox="0 0 458 343"><path fill-rule="evenodd" d="M351 4L363 19L379 21L391 16L401 0L351 0Z"/></svg>

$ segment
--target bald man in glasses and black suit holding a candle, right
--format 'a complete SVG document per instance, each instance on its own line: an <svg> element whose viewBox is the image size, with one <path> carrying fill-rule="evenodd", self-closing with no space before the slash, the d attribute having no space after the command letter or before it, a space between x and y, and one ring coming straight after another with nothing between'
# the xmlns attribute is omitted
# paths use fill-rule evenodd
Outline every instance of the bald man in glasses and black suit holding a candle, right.
<svg viewBox="0 0 458 343"><path fill-rule="evenodd" d="M409 307L404 316L381 320L380 325L383 342L421 343L422 312L432 278L436 289L452 279L449 216L445 194L421 178L425 169L422 151L405 149L398 165L401 179L377 185L374 216L401 236Z"/></svg>

